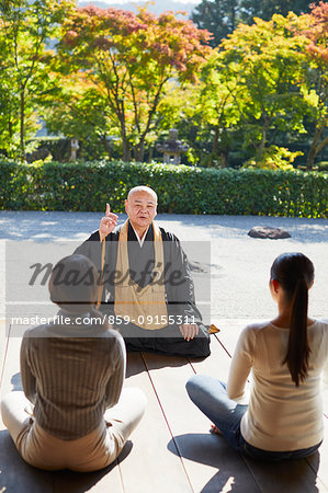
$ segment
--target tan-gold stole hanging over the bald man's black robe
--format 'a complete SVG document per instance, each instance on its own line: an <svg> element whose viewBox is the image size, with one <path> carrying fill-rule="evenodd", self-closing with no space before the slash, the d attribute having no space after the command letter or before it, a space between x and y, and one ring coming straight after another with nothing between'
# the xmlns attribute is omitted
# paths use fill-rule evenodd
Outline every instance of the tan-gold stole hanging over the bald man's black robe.
<svg viewBox="0 0 328 493"><path fill-rule="evenodd" d="M145 287L138 286L129 275L128 221L125 221L120 230L116 272L123 273L123 277L115 284L114 311L116 316L127 318L129 322L142 329L157 330L168 325L168 309L163 282L162 238L155 222L151 227L154 228L156 272L152 282Z"/></svg>

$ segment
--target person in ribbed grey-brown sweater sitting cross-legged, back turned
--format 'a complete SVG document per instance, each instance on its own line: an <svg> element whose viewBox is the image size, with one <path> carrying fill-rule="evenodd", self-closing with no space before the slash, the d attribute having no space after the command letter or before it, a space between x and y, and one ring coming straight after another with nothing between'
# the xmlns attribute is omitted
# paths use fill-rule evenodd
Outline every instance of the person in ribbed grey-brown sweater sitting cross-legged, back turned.
<svg viewBox="0 0 328 493"><path fill-rule="evenodd" d="M92 308L97 279L94 265L83 255L57 263L49 293L65 324L54 318L25 332L24 392L10 392L1 402L3 423L19 452L41 469L94 471L109 466L145 411L140 390L122 390L125 346Z"/></svg>

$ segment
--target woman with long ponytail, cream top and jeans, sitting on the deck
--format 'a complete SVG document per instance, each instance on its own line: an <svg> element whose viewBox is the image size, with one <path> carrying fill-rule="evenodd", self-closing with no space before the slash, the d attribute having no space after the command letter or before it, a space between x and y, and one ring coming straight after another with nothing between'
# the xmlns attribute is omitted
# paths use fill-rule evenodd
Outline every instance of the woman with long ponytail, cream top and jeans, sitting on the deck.
<svg viewBox="0 0 328 493"><path fill-rule="evenodd" d="M244 329L227 385L201 375L186 383L214 432L255 459L307 457L323 440L320 375L328 359L328 323L307 317L313 282L314 266L305 255L280 255L270 278L278 317ZM250 371L247 405L242 399Z"/></svg>

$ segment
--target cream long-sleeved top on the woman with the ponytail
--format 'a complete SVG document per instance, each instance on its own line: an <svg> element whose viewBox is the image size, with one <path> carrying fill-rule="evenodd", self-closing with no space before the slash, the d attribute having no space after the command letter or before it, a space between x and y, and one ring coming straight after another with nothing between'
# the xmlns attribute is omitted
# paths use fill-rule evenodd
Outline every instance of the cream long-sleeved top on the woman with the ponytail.
<svg viewBox="0 0 328 493"><path fill-rule="evenodd" d="M308 326L309 369L298 387L282 360L289 329L272 323L248 325L240 334L231 360L227 392L242 402L245 383L252 372L249 406L241 434L252 446L291 451L317 445L324 437L320 376L328 360L328 323Z"/></svg>

